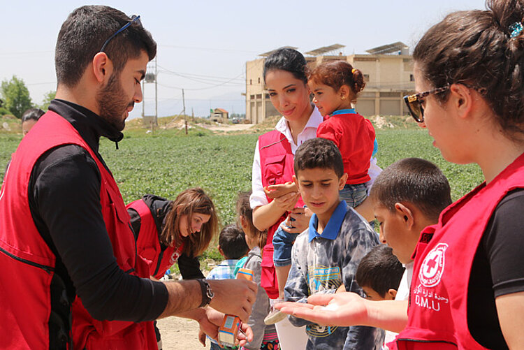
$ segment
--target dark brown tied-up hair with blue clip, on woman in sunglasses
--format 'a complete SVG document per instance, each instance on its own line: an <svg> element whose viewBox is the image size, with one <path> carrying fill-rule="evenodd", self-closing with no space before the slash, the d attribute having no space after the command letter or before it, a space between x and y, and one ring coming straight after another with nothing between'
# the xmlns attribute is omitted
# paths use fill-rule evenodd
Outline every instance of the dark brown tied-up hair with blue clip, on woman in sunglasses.
<svg viewBox="0 0 524 350"><path fill-rule="evenodd" d="M433 87L472 85L513 140L524 138L524 32L509 27L524 21L523 0L488 0L488 10L447 15L421 38L413 58ZM435 95L447 101L449 90Z"/></svg>

